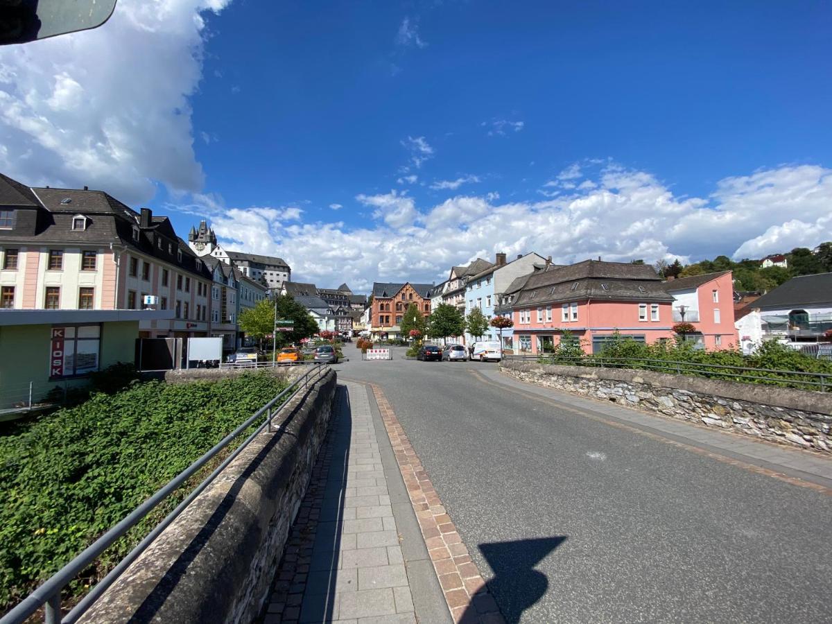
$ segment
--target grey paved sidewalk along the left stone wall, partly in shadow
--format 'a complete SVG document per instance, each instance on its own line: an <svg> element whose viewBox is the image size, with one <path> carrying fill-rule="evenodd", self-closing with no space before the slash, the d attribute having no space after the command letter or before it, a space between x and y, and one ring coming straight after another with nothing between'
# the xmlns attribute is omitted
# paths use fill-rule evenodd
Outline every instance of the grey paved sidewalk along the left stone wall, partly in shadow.
<svg viewBox="0 0 832 624"><path fill-rule="evenodd" d="M411 583L418 567L409 569L403 557L367 391L348 383L338 401L264 624L417 622ZM425 586L416 587L430 600Z"/></svg>

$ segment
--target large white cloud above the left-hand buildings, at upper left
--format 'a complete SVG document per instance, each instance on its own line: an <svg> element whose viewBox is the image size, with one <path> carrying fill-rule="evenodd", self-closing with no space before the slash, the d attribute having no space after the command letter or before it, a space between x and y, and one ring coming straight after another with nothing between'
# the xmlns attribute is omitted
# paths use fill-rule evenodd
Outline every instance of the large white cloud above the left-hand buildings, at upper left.
<svg viewBox="0 0 832 624"><path fill-rule="evenodd" d="M200 191L188 98L205 22L230 0L121 0L95 30L0 48L0 170L148 201ZM4 156L5 154L5 156Z"/></svg>

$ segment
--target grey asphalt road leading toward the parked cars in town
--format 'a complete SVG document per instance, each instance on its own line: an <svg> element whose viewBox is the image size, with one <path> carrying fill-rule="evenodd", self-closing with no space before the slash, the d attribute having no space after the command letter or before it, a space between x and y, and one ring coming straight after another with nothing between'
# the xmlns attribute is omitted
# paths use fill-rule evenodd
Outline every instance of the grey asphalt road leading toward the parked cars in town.
<svg viewBox="0 0 832 624"><path fill-rule="evenodd" d="M832 621L832 497L394 353L339 375L384 389L508 622Z"/></svg>

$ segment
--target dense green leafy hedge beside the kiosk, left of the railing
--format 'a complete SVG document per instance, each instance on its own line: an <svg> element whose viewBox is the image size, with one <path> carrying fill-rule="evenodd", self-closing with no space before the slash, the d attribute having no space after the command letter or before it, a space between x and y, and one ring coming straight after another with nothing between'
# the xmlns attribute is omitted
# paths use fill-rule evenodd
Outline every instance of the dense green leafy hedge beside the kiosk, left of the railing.
<svg viewBox="0 0 832 624"><path fill-rule="evenodd" d="M0 612L66 565L285 385L283 379L263 373L218 382L134 384L115 394L93 394L77 407L20 425L0 438ZM191 486L199 480L195 476ZM65 599L85 593L187 493L188 488L180 488L113 544L72 583Z"/></svg>

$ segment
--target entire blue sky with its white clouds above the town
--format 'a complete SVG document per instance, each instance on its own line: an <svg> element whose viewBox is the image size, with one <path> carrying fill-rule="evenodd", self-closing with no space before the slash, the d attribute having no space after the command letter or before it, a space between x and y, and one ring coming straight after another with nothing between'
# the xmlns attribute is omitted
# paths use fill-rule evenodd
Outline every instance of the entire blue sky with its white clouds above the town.
<svg viewBox="0 0 832 624"><path fill-rule="evenodd" d="M181 233L207 218L320 285L439 280L499 250L832 239L828 4L156 10L120 0L92 34L0 52L2 171L109 190Z"/></svg>

